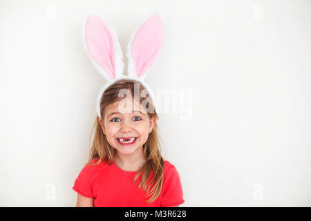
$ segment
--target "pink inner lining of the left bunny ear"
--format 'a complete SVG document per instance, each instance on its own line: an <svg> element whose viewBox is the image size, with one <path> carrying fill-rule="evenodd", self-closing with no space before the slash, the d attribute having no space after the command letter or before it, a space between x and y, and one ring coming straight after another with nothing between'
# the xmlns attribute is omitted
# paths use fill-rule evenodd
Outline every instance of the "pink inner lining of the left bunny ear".
<svg viewBox="0 0 311 221"><path fill-rule="evenodd" d="M90 15L85 26L88 52L104 69L110 79L115 78L115 39L109 25L100 17Z"/></svg>

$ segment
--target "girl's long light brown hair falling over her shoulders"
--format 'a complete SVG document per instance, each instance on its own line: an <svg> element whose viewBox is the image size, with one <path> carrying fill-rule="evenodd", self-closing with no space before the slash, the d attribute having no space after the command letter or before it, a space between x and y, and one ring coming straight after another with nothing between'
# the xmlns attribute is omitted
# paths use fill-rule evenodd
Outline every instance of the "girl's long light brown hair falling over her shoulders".
<svg viewBox="0 0 311 221"><path fill-rule="evenodd" d="M138 90L134 90L134 85L136 83L140 85L139 93L143 93L142 90L146 88L144 88L144 86L138 81L130 79L120 79L119 81L115 82L115 84L112 84L111 86L109 86L109 88L105 90L100 102L100 113L102 115L102 119L104 119L104 111L106 109L106 106L109 106L109 104L113 104L114 102L124 99L123 97L118 96L120 90L128 89L131 91L131 95L133 95L133 97L135 93L137 95ZM144 98L140 95L138 97L140 97L140 104L142 104ZM153 101L151 99L149 99L147 106L147 109L152 110L147 110L149 118L156 117L156 119L158 119L158 114L156 113L156 110L153 106ZM107 141L106 135L104 135L102 131L102 126L100 125L98 116L96 117L93 124L92 132L94 131L94 129L95 134L93 138L93 144L91 146L91 153L89 155L88 163L90 164L93 159L99 158L99 160L93 165L100 164L100 162L106 162L106 164L109 165L113 164L113 157L115 156L116 150ZM160 136L158 133L158 125L156 123L153 126L153 130L148 135L147 142L143 145L143 153L146 163L137 171L133 178L133 184L135 184L135 181L141 175L138 187L142 187L144 193L147 193L146 196L149 198L146 201L147 203L151 203L156 200L160 195L160 192L162 191L164 160L161 155L159 139ZM153 173L153 177L149 182L149 177L151 176L151 173Z"/></svg>

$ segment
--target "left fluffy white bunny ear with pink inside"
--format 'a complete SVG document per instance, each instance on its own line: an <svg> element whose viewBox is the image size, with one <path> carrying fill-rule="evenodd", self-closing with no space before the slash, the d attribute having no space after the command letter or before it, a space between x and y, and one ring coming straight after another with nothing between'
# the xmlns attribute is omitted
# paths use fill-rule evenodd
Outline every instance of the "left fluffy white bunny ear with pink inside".
<svg viewBox="0 0 311 221"><path fill-rule="evenodd" d="M96 15L89 15L84 23L84 43L102 77L111 81L123 75L123 54L113 26Z"/></svg>

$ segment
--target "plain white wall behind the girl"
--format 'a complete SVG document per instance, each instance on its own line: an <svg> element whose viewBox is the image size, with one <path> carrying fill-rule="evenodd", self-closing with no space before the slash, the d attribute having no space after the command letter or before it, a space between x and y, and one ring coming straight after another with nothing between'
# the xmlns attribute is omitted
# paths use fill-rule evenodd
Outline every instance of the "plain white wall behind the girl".
<svg viewBox="0 0 311 221"><path fill-rule="evenodd" d="M0 1L0 206L75 206L105 81L82 47L88 14L123 52L158 12L147 81L182 97L160 114L182 206L311 206L310 1ZM126 61L126 59L124 59Z"/></svg>

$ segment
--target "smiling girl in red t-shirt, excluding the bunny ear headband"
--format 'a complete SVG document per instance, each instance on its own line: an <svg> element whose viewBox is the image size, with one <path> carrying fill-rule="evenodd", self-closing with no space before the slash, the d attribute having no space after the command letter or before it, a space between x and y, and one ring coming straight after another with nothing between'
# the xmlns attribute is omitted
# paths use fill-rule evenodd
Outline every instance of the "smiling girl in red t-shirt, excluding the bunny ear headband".
<svg viewBox="0 0 311 221"><path fill-rule="evenodd" d="M158 115L147 112L142 97L118 97L124 88L134 95L134 82L123 79L102 97L103 114L95 121L90 162L73 186L77 206L178 206L184 202L182 186L175 166L161 156ZM126 109L126 104L132 104L132 113L122 113L120 104Z"/></svg>

